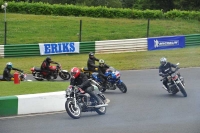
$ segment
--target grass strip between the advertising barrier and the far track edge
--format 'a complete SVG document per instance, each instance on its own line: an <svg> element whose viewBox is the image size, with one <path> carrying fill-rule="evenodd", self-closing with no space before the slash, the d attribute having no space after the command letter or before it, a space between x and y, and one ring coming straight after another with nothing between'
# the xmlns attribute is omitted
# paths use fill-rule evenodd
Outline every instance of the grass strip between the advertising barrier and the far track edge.
<svg viewBox="0 0 200 133"><path fill-rule="evenodd" d="M180 62L180 67L197 67L200 60L200 47L186 47L174 50L158 50L144 52L127 52L115 54L96 54L97 58L104 59L107 64L119 70L136 70L158 68L159 59L165 56L170 62ZM84 67L87 64L88 54L73 55L52 55L52 60L59 62L63 69L71 70L72 67ZM1 58L0 74L7 62L12 62L13 66L31 73L33 66L40 67L46 56Z"/></svg>

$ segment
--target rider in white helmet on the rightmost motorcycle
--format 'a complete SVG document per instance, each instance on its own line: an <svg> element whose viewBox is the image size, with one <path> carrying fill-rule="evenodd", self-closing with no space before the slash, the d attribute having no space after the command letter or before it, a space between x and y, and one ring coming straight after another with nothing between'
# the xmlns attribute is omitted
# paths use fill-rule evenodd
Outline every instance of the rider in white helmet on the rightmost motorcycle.
<svg viewBox="0 0 200 133"><path fill-rule="evenodd" d="M162 57L160 59L160 64L161 65L159 66L159 76L164 77L164 79L163 79L163 85L167 89L167 91L170 92L169 86L167 85L167 83L168 83L167 75L172 72L172 67L173 68L177 68L177 65L172 64L170 62L167 62L167 59L165 57Z"/></svg>

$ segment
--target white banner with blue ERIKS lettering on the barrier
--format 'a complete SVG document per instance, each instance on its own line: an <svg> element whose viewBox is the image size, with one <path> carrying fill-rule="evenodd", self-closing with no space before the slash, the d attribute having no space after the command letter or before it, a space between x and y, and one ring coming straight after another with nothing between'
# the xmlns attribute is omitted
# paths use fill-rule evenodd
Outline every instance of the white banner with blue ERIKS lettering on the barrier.
<svg viewBox="0 0 200 133"><path fill-rule="evenodd" d="M79 53L79 42L39 43L40 55Z"/></svg>

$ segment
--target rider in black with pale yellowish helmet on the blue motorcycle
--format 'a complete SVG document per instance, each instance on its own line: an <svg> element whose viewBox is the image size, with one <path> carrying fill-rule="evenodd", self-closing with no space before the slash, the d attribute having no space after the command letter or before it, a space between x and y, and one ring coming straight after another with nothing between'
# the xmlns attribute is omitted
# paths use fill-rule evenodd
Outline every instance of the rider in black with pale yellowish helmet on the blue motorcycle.
<svg viewBox="0 0 200 133"><path fill-rule="evenodd" d="M99 60L99 66L98 66L98 77L101 79L102 83L103 83L103 87L106 87L106 81L107 81L107 76L105 76L106 70L109 68L110 66L105 64L105 61L103 59Z"/></svg>

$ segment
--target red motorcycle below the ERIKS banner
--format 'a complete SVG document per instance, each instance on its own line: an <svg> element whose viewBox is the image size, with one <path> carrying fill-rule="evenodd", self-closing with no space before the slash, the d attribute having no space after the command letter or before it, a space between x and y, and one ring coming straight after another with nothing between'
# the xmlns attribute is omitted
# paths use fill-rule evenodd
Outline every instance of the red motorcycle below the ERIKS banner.
<svg viewBox="0 0 200 133"><path fill-rule="evenodd" d="M49 69L51 71L50 75L48 75L47 72L42 71L41 68L38 67L32 67L31 71L34 78L38 81L43 81L44 79L47 79L48 81L51 79L56 79L58 75L63 80L69 80L71 78L70 73L67 70L62 70L60 64L57 64L56 66L49 66Z"/></svg>

